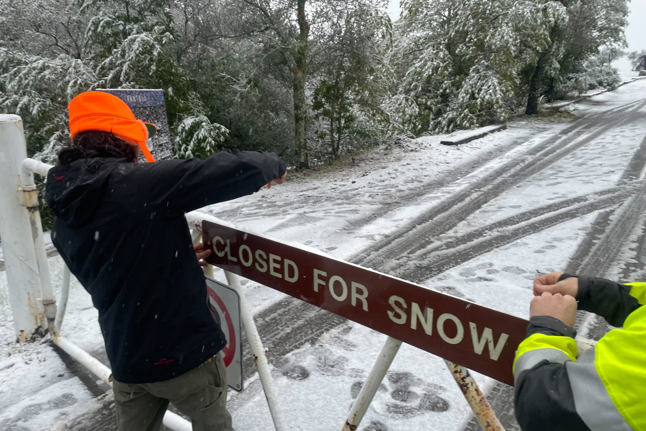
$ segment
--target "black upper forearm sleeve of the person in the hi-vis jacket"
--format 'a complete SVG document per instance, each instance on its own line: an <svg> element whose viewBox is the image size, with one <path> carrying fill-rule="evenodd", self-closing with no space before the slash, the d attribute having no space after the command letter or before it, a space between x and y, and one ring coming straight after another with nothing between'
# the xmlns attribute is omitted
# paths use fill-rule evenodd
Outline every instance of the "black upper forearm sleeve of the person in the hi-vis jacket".
<svg viewBox="0 0 646 431"><path fill-rule="evenodd" d="M623 326L626 317L640 308L638 300L630 295L630 286L607 279L568 273L563 273L559 281L570 277L579 279L579 291L576 295L578 309L595 313L612 326Z"/></svg>

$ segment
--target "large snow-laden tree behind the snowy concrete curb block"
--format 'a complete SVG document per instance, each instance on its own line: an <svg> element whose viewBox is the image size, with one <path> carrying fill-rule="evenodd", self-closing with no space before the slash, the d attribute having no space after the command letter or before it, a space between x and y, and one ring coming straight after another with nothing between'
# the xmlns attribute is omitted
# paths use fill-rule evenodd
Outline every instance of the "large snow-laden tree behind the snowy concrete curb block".
<svg viewBox="0 0 646 431"><path fill-rule="evenodd" d="M404 0L386 107L402 131L450 132L505 121L521 69L567 21L552 1Z"/></svg>

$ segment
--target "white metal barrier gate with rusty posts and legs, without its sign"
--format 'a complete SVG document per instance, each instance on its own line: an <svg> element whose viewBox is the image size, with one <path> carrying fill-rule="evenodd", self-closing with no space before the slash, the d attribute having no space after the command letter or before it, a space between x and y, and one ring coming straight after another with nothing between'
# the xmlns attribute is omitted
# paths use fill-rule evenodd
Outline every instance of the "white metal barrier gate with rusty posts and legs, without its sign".
<svg viewBox="0 0 646 431"><path fill-rule="evenodd" d="M57 346L112 386L109 381L110 369L60 333L67 305L70 273L66 267L63 272L60 308L57 311L47 266L33 176L34 173L47 176L51 167L52 165L26 157L21 118L16 115L0 114L0 238L16 337L18 341L25 342L30 341L34 335L50 333ZM187 213L186 218L189 227L199 233L202 233L202 220L230 226L222 220L197 211ZM265 349L246 302L244 289L240 286L238 275L228 271L225 271L225 275L229 286L236 289L240 295L245 332L275 428L277 431L287 430L282 412L278 407ZM401 341L388 337L357 400L353 403L346 423L342 425L342 431L357 429L401 344ZM485 395L479 390L468 370L450 361L446 361L446 364L483 429L504 431L486 401ZM191 430L191 424L188 421L169 411L166 412L163 423L172 430Z"/></svg>

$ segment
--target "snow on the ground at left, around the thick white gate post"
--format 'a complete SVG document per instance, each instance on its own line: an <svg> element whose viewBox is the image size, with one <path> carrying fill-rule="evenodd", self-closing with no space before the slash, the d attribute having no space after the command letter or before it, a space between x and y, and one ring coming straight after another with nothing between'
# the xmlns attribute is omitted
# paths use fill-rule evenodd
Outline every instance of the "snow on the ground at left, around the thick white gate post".
<svg viewBox="0 0 646 431"><path fill-rule="evenodd" d="M49 259L57 297L62 265L61 257ZM89 293L72 277L63 330L66 335L74 334L75 342L95 356L103 348L97 317ZM14 343L5 271L0 272L0 321L0 430L69 429L79 425L83 415L98 410L101 404L78 377L71 375L48 337L30 344ZM109 388L103 383L101 387Z"/></svg>

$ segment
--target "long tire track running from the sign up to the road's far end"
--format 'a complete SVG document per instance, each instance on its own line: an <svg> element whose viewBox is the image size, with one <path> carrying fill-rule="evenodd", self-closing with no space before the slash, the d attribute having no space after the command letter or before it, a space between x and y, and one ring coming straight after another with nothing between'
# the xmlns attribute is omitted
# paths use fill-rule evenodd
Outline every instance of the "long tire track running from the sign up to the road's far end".
<svg viewBox="0 0 646 431"><path fill-rule="evenodd" d="M406 256L411 255L433 242L439 235L450 231L483 205L501 195L514 185L523 182L564 156L583 147L601 134L630 120L621 116L623 112L636 107L640 110L646 101L638 101L612 110L610 118L583 118L564 131L528 149L522 156L506 162L479 181L479 187L465 187L449 196L430 211L419 216L399 232L362 251L351 261L380 271L396 271L406 264ZM394 238L394 239L391 239ZM401 260L396 261L393 258Z"/></svg>

